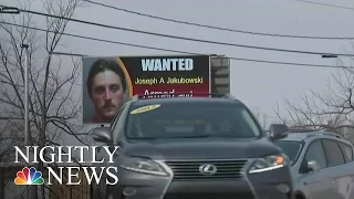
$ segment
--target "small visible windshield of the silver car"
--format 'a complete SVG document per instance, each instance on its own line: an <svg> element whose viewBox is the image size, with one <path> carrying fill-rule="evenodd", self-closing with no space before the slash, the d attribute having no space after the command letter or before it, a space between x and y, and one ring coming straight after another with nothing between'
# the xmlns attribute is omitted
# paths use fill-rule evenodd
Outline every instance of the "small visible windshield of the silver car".
<svg viewBox="0 0 354 199"><path fill-rule="evenodd" d="M275 140L275 145L279 146L284 154L289 157L291 163L296 161L298 155L301 150L301 142L295 140Z"/></svg>

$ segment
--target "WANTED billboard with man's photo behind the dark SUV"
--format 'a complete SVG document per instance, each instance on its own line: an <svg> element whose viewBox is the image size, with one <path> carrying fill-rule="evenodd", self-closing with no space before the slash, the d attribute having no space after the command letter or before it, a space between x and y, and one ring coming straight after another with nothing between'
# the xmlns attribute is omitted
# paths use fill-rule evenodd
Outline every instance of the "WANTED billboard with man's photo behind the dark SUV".
<svg viewBox="0 0 354 199"><path fill-rule="evenodd" d="M211 93L209 55L84 56L83 123L111 123L134 95Z"/></svg>

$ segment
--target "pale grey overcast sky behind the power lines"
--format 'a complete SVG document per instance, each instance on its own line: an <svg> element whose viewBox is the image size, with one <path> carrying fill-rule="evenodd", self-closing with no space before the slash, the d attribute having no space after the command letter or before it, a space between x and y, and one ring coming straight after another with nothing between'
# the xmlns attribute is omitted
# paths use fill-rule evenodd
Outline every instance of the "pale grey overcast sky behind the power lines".
<svg viewBox="0 0 354 199"><path fill-rule="evenodd" d="M293 35L354 38L354 10L330 8L294 0L94 1L180 21L244 31ZM11 6L17 4L13 0L0 0L0 2ZM354 8L353 0L316 0L316 2ZM35 4L38 4L38 2L35 2ZM40 6L32 7L32 10L43 11ZM345 40L305 40L233 33L166 22L94 6L87 2L76 10L74 18L143 31L244 45L329 53L353 53L350 41ZM329 65L336 64L334 59L322 59L320 55L206 44L119 30L110 30L75 22L69 23L66 32L132 44L197 53L225 54L227 56L243 59ZM169 52L107 44L73 38L64 38L62 42L64 48L60 51L90 55L169 54ZM284 98L299 101L306 87L322 91L329 82L331 72L333 72L331 69L231 61L231 93L251 108L260 108L262 113L274 116L272 108L275 106L277 101L280 103L282 103Z"/></svg>

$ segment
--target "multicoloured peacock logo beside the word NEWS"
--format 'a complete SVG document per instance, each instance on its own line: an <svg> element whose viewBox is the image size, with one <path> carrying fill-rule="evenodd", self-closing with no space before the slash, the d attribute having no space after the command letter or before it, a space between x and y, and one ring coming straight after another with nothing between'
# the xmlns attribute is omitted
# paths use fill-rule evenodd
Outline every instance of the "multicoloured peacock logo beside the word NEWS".
<svg viewBox="0 0 354 199"><path fill-rule="evenodd" d="M34 167L24 167L22 170L17 172L17 178L14 179L15 185L43 185L44 179L42 178L42 172L37 171Z"/></svg>

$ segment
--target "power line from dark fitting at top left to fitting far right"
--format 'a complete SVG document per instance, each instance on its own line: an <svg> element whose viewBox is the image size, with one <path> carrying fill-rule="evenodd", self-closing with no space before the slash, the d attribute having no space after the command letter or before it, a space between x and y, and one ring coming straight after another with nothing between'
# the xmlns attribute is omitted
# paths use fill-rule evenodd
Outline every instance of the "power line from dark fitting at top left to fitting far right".
<svg viewBox="0 0 354 199"><path fill-rule="evenodd" d="M333 54L335 56L354 56L354 54L313 52L313 51L298 51L298 50L264 48L264 46L256 46L256 45L243 45L243 44L237 44L237 43L217 42L217 41L210 41L210 40L191 39L191 38L185 38L185 36L170 35L170 34L162 34L162 33L156 33L156 32L140 31L140 30L135 30L135 29L127 29L127 28L122 28L122 27L113 27L113 25L101 24L101 23L95 23L95 22L84 21L84 20L77 20L77 19L71 19L71 18L64 18L64 17L59 17L59 15L53 15L53 14L31 11L31 10L20 10L20 11L21 12L32 13L32 14L38 14L38 15L51 17L51 18L56 18L56 19L62 19L62 20L67 20L67 21L74 21L74 22L79 22L79 23L85 23L85 24L107 28L107 29L116 29L116 30L122 30L122 31L136 32L136 33L142 33L142 34L149 34L149 35L156 35L156 36L169 38L169 39L177 39L177 40L185 40L185 41L209 43L209 44L238 46L238 48L257 49L257 50L266 50L266 51L287 52L287 53L300 53L300 54L313 54L313 55Z"/></svg>

